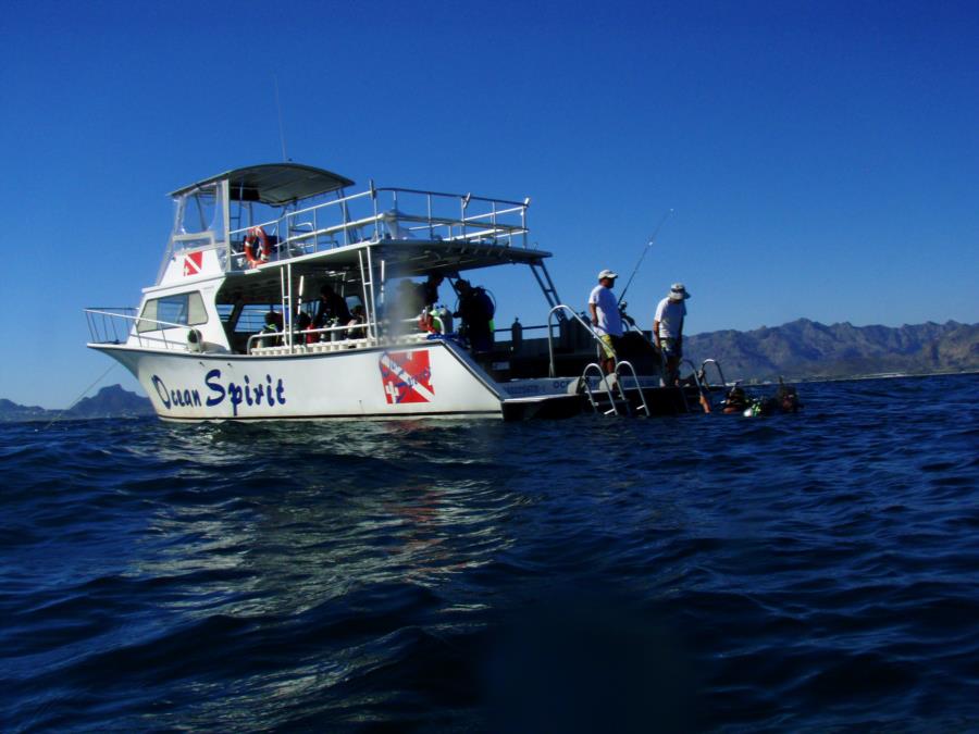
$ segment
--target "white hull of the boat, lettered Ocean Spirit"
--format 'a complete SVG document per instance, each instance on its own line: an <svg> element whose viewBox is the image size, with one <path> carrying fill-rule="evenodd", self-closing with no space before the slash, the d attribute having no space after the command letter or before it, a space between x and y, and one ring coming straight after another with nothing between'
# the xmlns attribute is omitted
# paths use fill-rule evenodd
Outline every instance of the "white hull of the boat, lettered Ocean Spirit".
<svg viewBox="0 0 979 734"><path fill-rule="evenodd" d="M90 346L126 366L166 420L500 416L507 397L445 341L270 357Z"/></svg>

